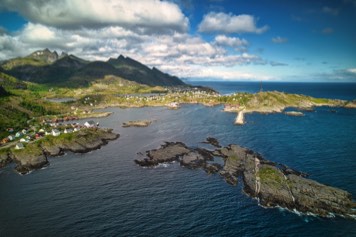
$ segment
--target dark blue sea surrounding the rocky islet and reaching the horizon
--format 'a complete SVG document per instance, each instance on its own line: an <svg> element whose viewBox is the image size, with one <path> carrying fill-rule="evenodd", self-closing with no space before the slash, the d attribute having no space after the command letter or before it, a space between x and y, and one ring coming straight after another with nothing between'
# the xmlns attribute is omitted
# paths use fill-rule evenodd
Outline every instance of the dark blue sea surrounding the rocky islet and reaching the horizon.
<svg viewBox="0 0 356 237"><path fill-rule="evenodd" d="M191 82L222 94L257 92L259 82ZM315 97L356 99L356 83L272 83L278 90ZM311 179L356 197L356 109L320 107L304 117L236 114L222 106L106 108L101 127L120 138L86 154L49 158L28 175L14 165L0 170L0 236L356 236L356 220L320 218L281 208L264 208L246 196L241 182L186 169L178 163L143 168L145 151L166 141L188 146L207 137L240 144L271 161L306 172ZM145 128L122 128L149 119Z"/></svg>

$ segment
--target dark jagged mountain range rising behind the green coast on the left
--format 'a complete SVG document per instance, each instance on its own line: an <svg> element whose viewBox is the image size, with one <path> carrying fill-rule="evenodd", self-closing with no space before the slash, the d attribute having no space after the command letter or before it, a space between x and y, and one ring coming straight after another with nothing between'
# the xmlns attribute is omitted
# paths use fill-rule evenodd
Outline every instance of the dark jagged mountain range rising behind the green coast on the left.
<svg viewBox="0 0 356 237"><path fill-rule="evenodd" d="M175 76L163 73L129 57L120 55L108 61L88 62L74 55L48 49L36 51L23 58L4 61L3 71L20 80L59 86L85 86L91 81L114 75L149 86L185 85Z"/></svg>

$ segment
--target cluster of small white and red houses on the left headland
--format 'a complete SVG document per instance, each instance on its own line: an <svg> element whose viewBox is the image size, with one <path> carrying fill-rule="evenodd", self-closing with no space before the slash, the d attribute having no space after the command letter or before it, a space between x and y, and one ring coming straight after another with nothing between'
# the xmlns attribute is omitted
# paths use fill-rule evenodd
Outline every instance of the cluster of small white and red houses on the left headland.
<svg viewBox="0 0 356 237"><path fill-rule="evenodd" d="M67 120L68 121L68 120ZM61 133L73 133L79 131L81 128L96 128L99 126L99 123L95 123L93 120L87 121L84 123L84 125L80 125L78 123L73 123L73 124L66 124L66 125L59 125L56 123L58 121L50 121L48 125L51 127L51 130L49 131L48 129L41 128L38 131L36 131L35 128L33 129L22 129L21 131L14 132L12 128L8 128L7 131L10 133L9 136L3 138L0 141L1 145L5 145L9 142L15 142L17 141L18 143L15 146L15 149L23 149L24 148L24 143L29 143L31 141L40 139L44 136L54 136L57 137L61 135Z"/></svg>

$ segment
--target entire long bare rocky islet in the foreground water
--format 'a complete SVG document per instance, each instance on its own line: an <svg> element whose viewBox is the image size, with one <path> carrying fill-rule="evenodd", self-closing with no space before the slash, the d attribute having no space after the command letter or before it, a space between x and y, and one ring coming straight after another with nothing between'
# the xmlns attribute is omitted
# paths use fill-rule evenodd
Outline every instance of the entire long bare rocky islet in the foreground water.
<svg viewBox="0 0 356 237"><path fill-rule="evenodd" d="M216 144L216 139L210 141ZM308 179L305 173L266 160L238 145L207 150L190 148L181 142L166 142L159 149L147 151L146 156L135 163L150 167L178 161L187 168L219 173L231 185L241 179L244 192L265 207L283 207L321 217L356 218L356 203L347 191ZM224 165L214 163L215 157L221 157Z"/></svg>

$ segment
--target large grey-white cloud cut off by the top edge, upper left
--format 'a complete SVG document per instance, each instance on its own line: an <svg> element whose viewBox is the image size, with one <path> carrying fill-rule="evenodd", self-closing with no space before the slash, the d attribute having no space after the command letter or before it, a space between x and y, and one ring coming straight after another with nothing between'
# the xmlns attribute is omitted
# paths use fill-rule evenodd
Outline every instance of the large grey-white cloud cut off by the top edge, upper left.
<svg viewBox="0 0 356 237"><path fill-rule="evenodd" d="M19 12L30 22L57 28L121 26L144 31L186 31L180 8L159 0L2 0L0 8Z"/></svg>

